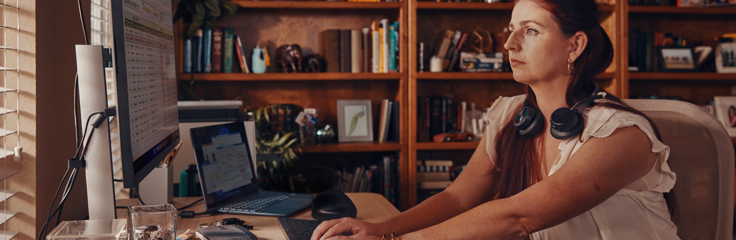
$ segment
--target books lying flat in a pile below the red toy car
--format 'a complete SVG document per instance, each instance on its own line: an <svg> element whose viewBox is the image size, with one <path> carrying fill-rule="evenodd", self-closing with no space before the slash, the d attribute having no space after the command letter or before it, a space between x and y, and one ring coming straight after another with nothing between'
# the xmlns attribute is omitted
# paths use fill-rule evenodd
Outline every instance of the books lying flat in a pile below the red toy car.
<svg viewBox="0 0 736 240"><path fill-rule="evenodd" d="M453 181L452 160L417 160L417 200L423 201L447 189Z"/></svg>

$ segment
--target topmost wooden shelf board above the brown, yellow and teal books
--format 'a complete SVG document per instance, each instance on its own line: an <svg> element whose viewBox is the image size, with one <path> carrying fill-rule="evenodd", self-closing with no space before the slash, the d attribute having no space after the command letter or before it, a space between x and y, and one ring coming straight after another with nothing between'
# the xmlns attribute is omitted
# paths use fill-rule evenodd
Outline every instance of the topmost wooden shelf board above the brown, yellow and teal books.
<svg viewBox="0 0 736 240"><path fill-rule="evenodd" d="M400 1L350 2L350 1L249 1L234 0L243 8L282 9L399 9Z"/></svg>

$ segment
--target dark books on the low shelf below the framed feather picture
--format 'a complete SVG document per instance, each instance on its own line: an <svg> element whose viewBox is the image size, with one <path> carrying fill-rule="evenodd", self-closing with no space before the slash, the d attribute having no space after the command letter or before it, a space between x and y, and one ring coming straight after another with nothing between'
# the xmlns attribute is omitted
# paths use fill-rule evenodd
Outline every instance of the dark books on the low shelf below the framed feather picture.
<svg viewBox="0 0 736 240"><path fill-rule="evenodd" d="M373 192L382 194L391 203L398 203L399 165L397 156L383 156L378 164L347 167L338 171L340 182L337 189L342 192Z"/></svg>

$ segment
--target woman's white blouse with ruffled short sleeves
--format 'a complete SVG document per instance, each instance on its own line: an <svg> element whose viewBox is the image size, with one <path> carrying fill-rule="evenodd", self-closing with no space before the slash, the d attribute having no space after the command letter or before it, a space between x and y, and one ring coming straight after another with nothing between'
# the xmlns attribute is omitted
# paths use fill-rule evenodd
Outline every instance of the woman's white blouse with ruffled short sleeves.
<svg viewBox="0 0 736 240"><path fill-rule="evenodd" d="M486 127L486 152L491 161L495 161L495 137L498 131L525 99L525 95L500 97L491 106L487 114L489 125ZM595 102L600 101L606 100ZM549 175L559 170L591 137L608 137L616 128L626 126L638 126L644 131L651 141L651 151L657 153L657 162L647 175L620 189L600 205L560 225L532 233L531 239L679 239L677 228L670 220L665 198L662 197L662 192L670 192L676 179L667 164L670 148L659 142L648 120L640 115L599 107L587 109L583 116L585 127L582 138L574 137L559 144L558 149L562 152L557 156Z"/></svg>

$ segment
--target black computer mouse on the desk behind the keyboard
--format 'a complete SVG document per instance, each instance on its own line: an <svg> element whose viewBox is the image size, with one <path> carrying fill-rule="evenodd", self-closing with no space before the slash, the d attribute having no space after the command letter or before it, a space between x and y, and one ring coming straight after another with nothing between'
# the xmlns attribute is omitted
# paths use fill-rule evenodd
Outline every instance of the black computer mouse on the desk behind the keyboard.
<svg viewBox="0 0 736 240"><path fill-rule="evenodd" d="M328 190L314 195L312 199L312 217L319 221L353 217L358 215L358 208L350 197L340 190Z"/></svg>

